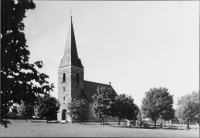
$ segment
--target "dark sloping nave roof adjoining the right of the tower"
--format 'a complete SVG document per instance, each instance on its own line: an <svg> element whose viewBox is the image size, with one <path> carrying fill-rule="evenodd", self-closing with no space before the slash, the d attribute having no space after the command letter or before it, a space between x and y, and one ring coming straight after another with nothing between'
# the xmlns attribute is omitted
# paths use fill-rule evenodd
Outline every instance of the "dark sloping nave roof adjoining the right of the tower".
<svg viewBox="0 0 200 138"><path fill-rule="evenodd" d="M105 86L107 88L113 87L109 84L96 83L91 81L84 81L84 90L82 90L82 98L86 98L88 102L92 101L92 96L97 93L98 86ZM114 89L113 89L114 90ZM114 90L115 91L115 90Z"/></svg>

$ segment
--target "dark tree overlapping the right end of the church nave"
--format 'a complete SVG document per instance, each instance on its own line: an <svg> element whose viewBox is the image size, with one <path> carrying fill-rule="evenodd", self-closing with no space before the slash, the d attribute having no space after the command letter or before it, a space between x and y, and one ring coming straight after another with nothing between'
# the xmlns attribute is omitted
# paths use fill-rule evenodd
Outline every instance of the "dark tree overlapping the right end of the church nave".
<svg viewBox="0 0 200 138"><path fill-rule="evenodd" d="M131 96L120 94L115 98L113 114L119 120L119 125L122 119L136 120L139 108L133 103L134 99Z"/></svg>

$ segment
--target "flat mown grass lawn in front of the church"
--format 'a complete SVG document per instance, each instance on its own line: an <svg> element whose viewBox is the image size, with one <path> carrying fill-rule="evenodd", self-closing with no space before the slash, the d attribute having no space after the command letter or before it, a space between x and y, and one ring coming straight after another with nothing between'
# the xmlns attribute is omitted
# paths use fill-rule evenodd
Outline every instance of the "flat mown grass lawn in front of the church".
<svg viewBox="0 0 200 138"><path fill-rule="evenodd" d="M191 125L185 129L144 129L118 127L116 123L105 125L99 123L46 123L41 120L10 120L8 128L0 126L1 137L199 137L199 126ZM173 125L174 126L174 125ZM185 128L179 125L176 128Z"/></svg>

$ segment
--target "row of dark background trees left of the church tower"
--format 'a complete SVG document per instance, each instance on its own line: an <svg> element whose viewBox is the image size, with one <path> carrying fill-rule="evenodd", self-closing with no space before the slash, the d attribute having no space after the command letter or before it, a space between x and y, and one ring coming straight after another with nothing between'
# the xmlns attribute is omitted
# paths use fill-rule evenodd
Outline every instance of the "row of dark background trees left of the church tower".
<svg viewBox="0 0 200 138"><path fill-rule="evenodd" d="M51 95L47 94L38 98L37 104L34 106L25 104L21 101L21 104L12 106L11 111L8 112L8 118L14 119L33 119L33 116L37 119L57 120L57 112L59 110L60 103Z"/></svg>

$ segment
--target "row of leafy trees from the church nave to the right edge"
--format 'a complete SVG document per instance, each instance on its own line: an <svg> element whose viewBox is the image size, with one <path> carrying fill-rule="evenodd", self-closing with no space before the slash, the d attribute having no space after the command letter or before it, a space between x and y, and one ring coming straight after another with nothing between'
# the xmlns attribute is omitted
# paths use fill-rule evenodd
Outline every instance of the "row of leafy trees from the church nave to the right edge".
<svg viewBox="0 0 200 138"><path fill-rule="evenodd" d="M137 120L139 127L144 125L143 118L154 122L158 119L177 122L182 120L189 129L190 123L199 123L199 92L192 92L178 99L177 109L173 108L173 95L166 88L153 88L145 93L141 109L134 103L134 99L126 94L117 95L112 88L98 87L92 96L91 105L93 115L104 125L106 117L117 117L119 125L122 119Z"/></svg>

